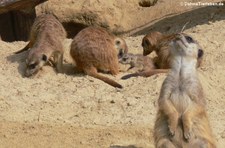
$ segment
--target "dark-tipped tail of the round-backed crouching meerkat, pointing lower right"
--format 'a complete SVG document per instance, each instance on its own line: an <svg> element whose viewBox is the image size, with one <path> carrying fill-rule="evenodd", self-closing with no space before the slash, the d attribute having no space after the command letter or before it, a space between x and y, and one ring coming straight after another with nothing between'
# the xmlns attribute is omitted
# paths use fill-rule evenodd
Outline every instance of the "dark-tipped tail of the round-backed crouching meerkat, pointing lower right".
<svg viewBox="0 0 225 148"><path fill-rule="evenodd" d="M100 75L100 74L98 74L98 73L92 72L92 73L88 73L88 75L89 75L89 76L92 76L92 77L94 77L94 78L97 78L97 79L99 79L99 80L102 80L102 81L104 81L105 83L107 83L107 84L109 84L109 85L111 85L111 86L113 86L113 87L123 88L123 86L120 85L119 83L115 82L114 80L112 80L112 79L110 79L110 78L107 78L107 77L105 77L105 76L102 76L102 75Z"/></svg>

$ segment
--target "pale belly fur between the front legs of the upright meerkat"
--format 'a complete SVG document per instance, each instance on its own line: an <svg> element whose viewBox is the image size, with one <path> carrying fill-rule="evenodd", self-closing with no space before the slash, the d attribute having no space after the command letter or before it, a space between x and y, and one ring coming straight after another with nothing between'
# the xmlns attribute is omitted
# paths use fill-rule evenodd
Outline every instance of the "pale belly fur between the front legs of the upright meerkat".
<svg viewBox="0 0 225 148"><path fill-rule="evenodd" d="M172 92L170 100L180 115L182 115L192 103L188 94L185 91L181 91L179 88Z"/></svg>

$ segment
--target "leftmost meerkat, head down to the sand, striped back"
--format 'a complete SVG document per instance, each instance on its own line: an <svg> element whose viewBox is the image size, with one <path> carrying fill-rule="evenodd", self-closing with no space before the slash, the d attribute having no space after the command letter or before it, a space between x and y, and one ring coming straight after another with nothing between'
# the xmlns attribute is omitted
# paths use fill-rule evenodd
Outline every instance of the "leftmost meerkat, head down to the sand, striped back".
<svg viewBox="0 0 225 148"><path fill-rule="evenodd" d="M28 50L25 76L34 76L53 57L57 72L63 71L63 40L66 31L62 24L51 14L38 16L30 32L26 47L15 54Z"/></svg>

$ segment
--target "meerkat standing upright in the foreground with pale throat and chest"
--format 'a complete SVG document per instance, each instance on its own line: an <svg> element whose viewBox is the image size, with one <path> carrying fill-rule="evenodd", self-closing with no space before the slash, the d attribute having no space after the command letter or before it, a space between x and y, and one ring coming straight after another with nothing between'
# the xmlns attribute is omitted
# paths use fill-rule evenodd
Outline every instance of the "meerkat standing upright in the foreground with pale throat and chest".
<svg viewBox="0 0 225 148"><path fill-rule="evenodd" d="M216 148L206 113L206 100L197 76L203 54L197 42L180 33L171 42L171 70L158 99L154 126L156 148Z"/></svg>

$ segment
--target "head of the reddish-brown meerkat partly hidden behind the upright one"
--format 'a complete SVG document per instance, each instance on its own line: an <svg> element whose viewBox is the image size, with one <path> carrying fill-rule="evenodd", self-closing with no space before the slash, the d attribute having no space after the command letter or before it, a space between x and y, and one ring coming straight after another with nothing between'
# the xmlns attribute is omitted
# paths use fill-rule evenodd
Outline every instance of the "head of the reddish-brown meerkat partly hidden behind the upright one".
<svg viewBox="0 0 225 148"><path fill-rule="evenodd" d="M155 50L157 42L163 37L163 34L157 31L147 34L142 39L143 55L146 56Z"/></svg>

